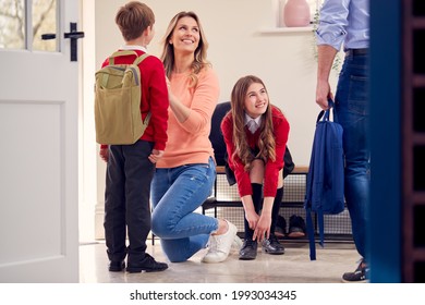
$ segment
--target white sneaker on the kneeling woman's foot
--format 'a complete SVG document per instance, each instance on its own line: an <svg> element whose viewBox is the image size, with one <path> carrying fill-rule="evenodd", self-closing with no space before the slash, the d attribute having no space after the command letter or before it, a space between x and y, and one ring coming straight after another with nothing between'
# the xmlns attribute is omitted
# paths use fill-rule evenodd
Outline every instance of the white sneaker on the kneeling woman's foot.
<svg viewBox="0 0 425 305"><path fill-rule="evenodd" d="M224 234L209 236L209 249L202 258L203 263L221 263L228 258L232 244L236 242L238 229L233 223L226 221L228 231Z"/></svg>

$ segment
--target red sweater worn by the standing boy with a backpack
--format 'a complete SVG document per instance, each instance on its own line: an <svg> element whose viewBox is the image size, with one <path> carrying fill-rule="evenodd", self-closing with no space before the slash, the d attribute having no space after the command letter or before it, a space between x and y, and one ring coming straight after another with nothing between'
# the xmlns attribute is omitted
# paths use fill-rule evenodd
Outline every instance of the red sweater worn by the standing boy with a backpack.
<svg viewBox="0 0 425 305"><path fill-rule="evenodd" d="M138 56L144 54L142 50L134 50ZM130 64L135 60L134 56L124 56L116 58L116 64ZM102 66L108 65L109 58L105 60ZM141 139L154 142L155 149L165 150L168 139L168 89L166 73L162 62L155 56L147 57L138 65L142 78L142 102L141 113L145 119L150 111L151 117L145 133ZM107 145L101 145L107 147Z"/></svg>

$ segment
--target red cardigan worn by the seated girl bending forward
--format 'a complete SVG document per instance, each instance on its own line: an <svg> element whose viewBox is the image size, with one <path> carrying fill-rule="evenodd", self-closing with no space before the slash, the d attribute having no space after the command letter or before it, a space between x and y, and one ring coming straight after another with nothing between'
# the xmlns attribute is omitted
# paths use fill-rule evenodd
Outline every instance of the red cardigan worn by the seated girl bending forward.
<svg viewBox="0 0 425 305"><path fill-rule="evenodd" d="M275 197L276 190L278 186L278 175L279 171L283 168L283 155L287 147L288 135L289 135L289 122L284 118L283 113L272 107L272 123L274 123L274 135L276 141L276 161L267 160L265 175L264 175L264 196L265 197ZM227 151L229 155L229 167L233 170L234 175L238 182L238 190L240 196L252 195L253 190L251 186L250 173L244 170L244 164L242 160L236 156L235 160L231 159L233 151L235 149L233 144L233 118L232 113L223 118L221 122L221 131L223 134ZM260 131L257 130L252 134L248 129L245 126L246 137L248 141L250 147L254 148L258 142Z"/></svg>

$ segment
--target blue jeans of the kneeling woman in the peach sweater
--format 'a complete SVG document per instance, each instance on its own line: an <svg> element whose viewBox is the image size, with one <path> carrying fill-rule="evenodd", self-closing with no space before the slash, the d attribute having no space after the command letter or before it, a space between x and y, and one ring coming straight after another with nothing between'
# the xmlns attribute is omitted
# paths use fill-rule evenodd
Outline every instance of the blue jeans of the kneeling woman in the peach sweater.
<svg viewBox="0 0 425 305"><path fill-rule="evenodd" d="M151 182L151 231L161 239L161 247L172 263L185 261L205 248L218 220L195 212L211 194L216 179L212 158L209 163L157 169Z"/></svg>

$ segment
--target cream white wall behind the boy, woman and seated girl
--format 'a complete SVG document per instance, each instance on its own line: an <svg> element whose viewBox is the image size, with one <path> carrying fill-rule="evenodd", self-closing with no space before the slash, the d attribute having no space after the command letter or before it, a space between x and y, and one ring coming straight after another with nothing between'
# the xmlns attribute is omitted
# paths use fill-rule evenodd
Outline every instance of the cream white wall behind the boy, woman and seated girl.
<svg viewBox="0 0 425 305"><path fill-rule="evenodd" d="M127 1L96 0L96 62L121 44L114 24L120 5ZM276 24L274 0L146 0L156 15L156 36L148 46L160 54L160 40L169 21L180 11L198 14L209 41L208 59L217 71L220 101L229 100L239 77L255 74L263 78L272 103L279 106L291 124L289 147L294 162L307 166L319 112L315 98L316 60L313 32L263 33ZM108 5L106 4L108 3Z"/></svg>

